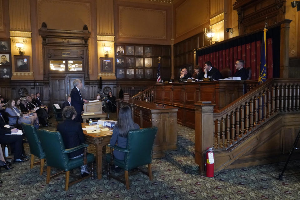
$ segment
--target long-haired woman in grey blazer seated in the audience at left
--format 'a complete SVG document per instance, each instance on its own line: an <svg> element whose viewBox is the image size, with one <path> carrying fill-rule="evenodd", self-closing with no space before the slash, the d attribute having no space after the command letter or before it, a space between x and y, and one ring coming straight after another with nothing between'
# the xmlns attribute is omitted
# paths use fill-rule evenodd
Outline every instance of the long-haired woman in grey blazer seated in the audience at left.
<svg viewBox="0 0 300 200"><path fill-rule="evenodd" d="M5 109L5 112L9 113L11 116L18 116L19 117L19 120L18 120L18 123L27 123L27 124L32 124L34 123L35 119L33 117L33 119L27 119L25 117L22 117L20 115L20 113L18 113L16 110L15 110L15 104L16 102L14 100L9 100L8 103L7 103L7 106L6 106L6 109ZM26 114L25 116L28 116L29 114ZM30 118L30 117L29 117ZM13 125L13 124L16 124L17 123L17 118L11 118L11 117L8 117L9 119L9 125Z"/></svg>

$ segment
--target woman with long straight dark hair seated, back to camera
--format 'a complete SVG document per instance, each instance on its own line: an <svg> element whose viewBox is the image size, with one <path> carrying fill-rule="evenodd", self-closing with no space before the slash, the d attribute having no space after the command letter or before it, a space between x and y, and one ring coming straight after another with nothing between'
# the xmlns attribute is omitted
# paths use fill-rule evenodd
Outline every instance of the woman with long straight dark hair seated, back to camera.
<svg viewBox="0 0 300 200"><path fill-rule="evenodd" d="M117 144L118 147L126 148L128 132L139 128L139 125L132 120L131 108L128 105L123 105L119 110L118 123L113 128L110 145ZM124 160L125 153L114 150L113 155L118 160Z"/></svg>

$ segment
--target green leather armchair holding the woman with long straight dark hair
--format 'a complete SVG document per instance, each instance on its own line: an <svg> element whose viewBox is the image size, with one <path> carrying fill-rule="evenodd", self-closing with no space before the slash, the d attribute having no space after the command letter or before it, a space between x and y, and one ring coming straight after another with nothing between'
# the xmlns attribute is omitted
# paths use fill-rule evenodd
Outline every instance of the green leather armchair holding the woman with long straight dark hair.
<svg viewBox="0 0 300 200"><path fill-rule="evenodd" d="M128 132L128 139L126 148L120 148L116 145L108 145L111 148L111 153L106 155L106 160L108 162L108 176L107 179L109 180L112 177L109 174L110 165L116 165L125 172L125 184L126 188L129 190L129 177L128 177L128 170L133 168L137 168L143 165L148 164L148 174L150 181L152 181L152 171L151 171L151 163L152 163L152 150L154 145L154 139L157 133L157 127L152 128L143 128L138 130L133 130ZM124 152L124 160L118 160L113 157L113 150L117 149L118 151ZM112 177L118 179L116 177ZM122 181L118 179L119 181ZM122 181L123 182L123 181Z"/></svg>

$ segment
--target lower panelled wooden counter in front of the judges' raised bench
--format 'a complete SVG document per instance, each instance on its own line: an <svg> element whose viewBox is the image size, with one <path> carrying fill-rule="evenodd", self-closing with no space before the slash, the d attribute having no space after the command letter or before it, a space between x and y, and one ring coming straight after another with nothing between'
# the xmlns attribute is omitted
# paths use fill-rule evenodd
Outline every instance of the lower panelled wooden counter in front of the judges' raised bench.
<svg viewBox="0 0 300 200"><path fill-rule="evenodd" d="M156 103L130 99L116 99L119 108L126 104L132 109L133 121L141 128L158 127L154 141L153 158L165 156L165 150L177 148L177 111L173 106L158 107Z"/></svg>

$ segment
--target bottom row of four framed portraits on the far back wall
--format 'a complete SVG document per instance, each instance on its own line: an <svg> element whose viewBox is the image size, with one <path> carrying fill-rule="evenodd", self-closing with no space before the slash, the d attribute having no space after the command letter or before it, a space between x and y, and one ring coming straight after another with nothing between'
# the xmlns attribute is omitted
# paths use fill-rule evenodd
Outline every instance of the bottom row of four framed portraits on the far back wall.
<svg viewBox="0 0 300 200"><path fill-rule="evenodd" d="M116 68L117 78L153 78L153 69Z"/></svg>

